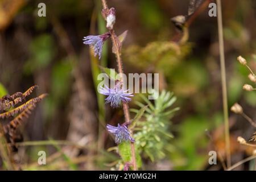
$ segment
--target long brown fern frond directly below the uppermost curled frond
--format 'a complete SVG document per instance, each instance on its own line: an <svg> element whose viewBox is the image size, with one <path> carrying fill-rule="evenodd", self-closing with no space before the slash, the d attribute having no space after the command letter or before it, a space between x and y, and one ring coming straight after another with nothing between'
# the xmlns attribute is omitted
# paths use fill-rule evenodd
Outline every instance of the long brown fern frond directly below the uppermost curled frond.
<svg viewBox="0 0 256 182"><path fill-rule="evenodd" d="M6 111L5 113L0 114L0 119L9 118L11 116L14 116L17 113L22 112L23 110L27 109L28 106L35 105L36 103L40 102L46 96L47 96L47 94L42 94L39 97L31 98L31 100L27 101L25 104L20 105L19 107L16 107L13 110Z"/></svg>

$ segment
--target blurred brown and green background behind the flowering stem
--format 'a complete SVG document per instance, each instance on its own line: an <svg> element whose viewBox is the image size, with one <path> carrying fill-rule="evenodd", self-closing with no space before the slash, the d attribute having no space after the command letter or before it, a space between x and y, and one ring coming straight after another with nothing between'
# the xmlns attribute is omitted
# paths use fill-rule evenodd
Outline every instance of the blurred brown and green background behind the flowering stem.
<svg viewBox="0 0 256 182"><path fill-rule="evenodd" d="M46 17L38 16L40 2L46 4ZM122 46L125 73L159 73L160 90L174 92L174 105L180 107L170 121L174 138L166 144L165 155L154 162L143 158L142 169L223 169L220 159L217 165L208 163L211 150L225 160L217 18L208 15L208 6L201 7L186 33L171 18L188 14L188 0L108 4L116 10L116 34L128 30ZM114 140L104 127L122 122L122 109L105 105L96 90L98 65L116 68L111 42L105 43L100 61L82 44L84 36L106 31L101 8L99 0L0 1L0 96L32 85L39 86L33 96L49 94L20 127L23 141L61 140L84 146L20 146L14 160L22 169L109 170L116 165L119 156L107 151L115 146ZM222 13L229 108L239 102L256 119L256 93L242 90L243 84L251 83L247 69L236 60L242 55L256 70L256 1L222 1ZM133 101L129 105L138 108ZM241 146L236 139L249 140L254 128L231 112L229 123L234 164L252 154L253 147ZM40 150L50 158L46 166L37 164ZM236 169L254 167L251 160Z"/></svg>

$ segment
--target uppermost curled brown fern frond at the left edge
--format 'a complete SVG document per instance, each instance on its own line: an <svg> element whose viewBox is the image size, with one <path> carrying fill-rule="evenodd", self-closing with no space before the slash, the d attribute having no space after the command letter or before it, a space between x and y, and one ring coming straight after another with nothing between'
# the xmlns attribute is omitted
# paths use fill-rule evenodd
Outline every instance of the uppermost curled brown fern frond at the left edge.
<svg viewBox="0 0 256 182"><path fill-rule="evenodd" d="M9 96L3 96L0 98L0 110L6 110L10 109L11 107L14 107L19 102L22 102L25 100L27 96L30 96L30 94L34 91L35 88L38 88L37 85L31 86L26 92L16 92L13 95Z"/></svg>

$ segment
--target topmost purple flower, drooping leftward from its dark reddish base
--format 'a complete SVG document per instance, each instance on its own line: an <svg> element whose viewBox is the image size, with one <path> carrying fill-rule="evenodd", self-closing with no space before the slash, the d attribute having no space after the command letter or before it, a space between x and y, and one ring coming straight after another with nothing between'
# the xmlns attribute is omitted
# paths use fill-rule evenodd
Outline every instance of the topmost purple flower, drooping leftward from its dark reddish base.
<svg viewBox="0 0 256 182"><path fill-rule="evenodd" d="M93 47L94 49L94 56L98 55L98 58L101 59L101 52L102 52L102 46L106 39L110 37L109 32L106 32L102 35L89 35L85 36L84 44L89 45L90 47Z"/></svg>

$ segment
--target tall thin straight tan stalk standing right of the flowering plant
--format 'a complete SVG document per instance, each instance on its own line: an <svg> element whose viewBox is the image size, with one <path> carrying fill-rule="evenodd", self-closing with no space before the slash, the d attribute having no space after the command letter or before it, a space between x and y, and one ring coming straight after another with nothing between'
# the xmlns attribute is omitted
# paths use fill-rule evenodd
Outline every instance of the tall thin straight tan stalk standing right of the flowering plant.
<svg viewBox="0 0 256 182"><path fill-rule="evenodd" d="M217 0L217 19L218 19L218 41L220 44L220 64L221 64L222 102L223 102L224 123L225 123L226 160L227 160L227 167L229 168L231 166L231 156L230 156L230 139L229 139L228 96L226 91L224 39L223 39L222 13L221 13L220 0Z"/></svg>

